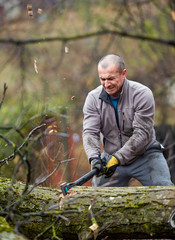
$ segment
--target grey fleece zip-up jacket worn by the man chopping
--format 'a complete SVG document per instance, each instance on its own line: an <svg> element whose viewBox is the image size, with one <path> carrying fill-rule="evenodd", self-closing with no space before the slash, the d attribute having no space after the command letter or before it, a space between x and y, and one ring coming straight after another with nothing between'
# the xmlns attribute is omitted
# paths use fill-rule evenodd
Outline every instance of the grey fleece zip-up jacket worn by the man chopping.
<svg viewBox="0 0 175 240"><path fill-rule="evenodd" d="M89 159L100 156L103 145L121 165L128 165L155 141L155 103L148 87L125 78L117 110L118 119L102 86L88 94L83 107L83 145Z"/></svg>

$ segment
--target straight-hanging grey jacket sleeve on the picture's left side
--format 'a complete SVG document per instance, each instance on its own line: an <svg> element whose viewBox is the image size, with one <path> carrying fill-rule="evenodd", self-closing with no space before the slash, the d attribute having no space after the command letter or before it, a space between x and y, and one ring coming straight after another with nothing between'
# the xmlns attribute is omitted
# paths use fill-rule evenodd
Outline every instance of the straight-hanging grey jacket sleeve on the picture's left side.
<svg viewBox="0 0 175 240"><path fill-rule="evenodd" d="M88 94L84 107L83 146L88 159L100 155L100 114L95 97Z"/></svg>

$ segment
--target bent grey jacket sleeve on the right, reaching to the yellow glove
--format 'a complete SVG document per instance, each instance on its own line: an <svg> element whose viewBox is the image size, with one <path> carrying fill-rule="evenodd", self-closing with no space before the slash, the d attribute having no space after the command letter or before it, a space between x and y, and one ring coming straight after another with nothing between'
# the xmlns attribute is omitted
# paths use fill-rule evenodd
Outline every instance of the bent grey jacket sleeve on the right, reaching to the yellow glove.
<svg viewBox="0 0 175 240"><path fill-rule="evenodd" d="M151 143L154 133L154 97L150 89L137 93L133 99L133 134L124 146L114 153L121 165L132 163Z"/></svg>

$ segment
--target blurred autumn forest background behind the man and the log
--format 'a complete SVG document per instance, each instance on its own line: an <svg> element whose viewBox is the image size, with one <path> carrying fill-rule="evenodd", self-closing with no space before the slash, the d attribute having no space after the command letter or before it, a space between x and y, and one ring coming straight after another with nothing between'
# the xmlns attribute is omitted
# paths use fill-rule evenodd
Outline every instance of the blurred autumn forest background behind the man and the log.
<svg viewBox="0 0 175 240"><path fill-rule="evenodd" d="M82 108L110 53L153 91L155 125L173 126L174 0L0 0L1 176L57 170L46 185L59 187L90 170Z"/></svg>

